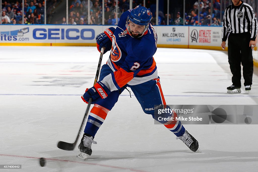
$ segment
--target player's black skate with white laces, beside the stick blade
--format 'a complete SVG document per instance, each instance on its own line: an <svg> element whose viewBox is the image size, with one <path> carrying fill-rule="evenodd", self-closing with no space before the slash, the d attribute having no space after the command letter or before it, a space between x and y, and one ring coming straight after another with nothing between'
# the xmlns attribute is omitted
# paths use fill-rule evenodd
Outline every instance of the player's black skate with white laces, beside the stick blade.
<svg viewBox="0 0 258 172"><path fill-rule="evenodd" d="M80 144L78 145L79 152L76 157L85 160L87 159L91 154L91 144L97 144L97 142L93 141L93 137L86 136L85 133L83 134L82 140Z"/></svg>

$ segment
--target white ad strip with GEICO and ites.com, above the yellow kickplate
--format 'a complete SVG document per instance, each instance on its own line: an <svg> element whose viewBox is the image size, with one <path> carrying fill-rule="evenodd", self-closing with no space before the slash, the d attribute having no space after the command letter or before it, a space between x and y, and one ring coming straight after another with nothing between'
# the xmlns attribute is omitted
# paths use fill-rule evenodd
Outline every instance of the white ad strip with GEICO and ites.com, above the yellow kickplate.
<svg viewBox="0 0 258 172"><path fill-rule="evenodd" d="M110 26L2 25L4 43L95 43L96 35Z"/></svg>

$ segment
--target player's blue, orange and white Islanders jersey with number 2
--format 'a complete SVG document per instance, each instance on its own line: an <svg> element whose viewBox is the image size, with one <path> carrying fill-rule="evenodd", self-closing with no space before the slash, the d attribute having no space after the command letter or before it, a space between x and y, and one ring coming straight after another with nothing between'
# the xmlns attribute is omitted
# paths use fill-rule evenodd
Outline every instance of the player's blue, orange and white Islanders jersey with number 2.
<svg viewBox="0 0 258 172"><path fill-rule="evenodd" d="M157 33L149 25L144 35L133 38L126 28L130 11L124 12L113 34L107 64L114 71L101 81L110 91L124 85L137 85L158 77L153 55L157 50Z"/></svg>

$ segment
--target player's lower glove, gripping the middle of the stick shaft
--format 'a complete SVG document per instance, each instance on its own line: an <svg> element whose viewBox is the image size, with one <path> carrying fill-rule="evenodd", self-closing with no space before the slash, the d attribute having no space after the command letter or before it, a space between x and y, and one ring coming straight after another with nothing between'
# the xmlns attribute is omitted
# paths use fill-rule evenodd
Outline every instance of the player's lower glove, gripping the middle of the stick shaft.
<svg viewBox="0 0 258 172"><path fill-rule="evenodd" d="M82 96L82 100L85 103L88 103L90 98L92 98L91 104L95 104L99 99L105 99L110 93L111 92L106 85L101 82L97 82L93 87L86 89Z"/></svg>

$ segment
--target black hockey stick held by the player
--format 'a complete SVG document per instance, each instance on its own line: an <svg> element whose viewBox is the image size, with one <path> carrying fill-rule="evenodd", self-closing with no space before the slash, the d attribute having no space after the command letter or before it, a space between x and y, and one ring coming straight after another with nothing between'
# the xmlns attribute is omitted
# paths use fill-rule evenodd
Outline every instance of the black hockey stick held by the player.
<svg viewBox="0 0 258 172"><path fill-rule="evenodd" d="M101 51L100 51L100 57L99 57L99 64L98 64L98 68L97 68L97 72L96 72L96 77L95 77L95 81L94 81L94 84L93 86L96 84L96 82L98 81L98 78L99 78L99 73L100 73L100 66L101 66L101 61L102 61L102 56L103 56L103 52L104 52L104 47L101 48ZM82 125L80 126L80 130L77 134L77 137L74 141L74 143L67 143L67 142L62 142L62 141L59 141L58 144L57 144L57 147L59 149L63 149L63 150L67 150L67 151L72 151L74 150L75 146L76 146L76 143L78 141L78 138L82 132L82 129L84 127L84 124L85 124L85 120L88 116L88 113L89 113L89 109L91 107L91 102L92 102L92 99L90 98L90 100L88 101L88 105L87 105L87 109L86 109L86 112L84 114L84 117L83 117L83 121L82 121Z"/></svg>

